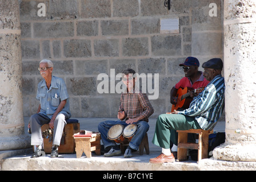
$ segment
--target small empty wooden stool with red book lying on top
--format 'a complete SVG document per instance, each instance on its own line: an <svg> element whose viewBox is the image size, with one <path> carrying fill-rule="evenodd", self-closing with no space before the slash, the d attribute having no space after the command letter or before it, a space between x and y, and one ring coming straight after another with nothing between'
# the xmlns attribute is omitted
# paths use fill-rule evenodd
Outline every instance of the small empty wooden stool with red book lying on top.
<svg viewBox="0 0 256 182"><path fill-rule="evenodd" d="M87 158L91 158L92 151L95 151L96 155L101 155L101 134L92 134L91 137L78 136L79 135L73 135L75 139L75 151L77 152L77 158L81 158L83 152L85 152Z"/></svg>

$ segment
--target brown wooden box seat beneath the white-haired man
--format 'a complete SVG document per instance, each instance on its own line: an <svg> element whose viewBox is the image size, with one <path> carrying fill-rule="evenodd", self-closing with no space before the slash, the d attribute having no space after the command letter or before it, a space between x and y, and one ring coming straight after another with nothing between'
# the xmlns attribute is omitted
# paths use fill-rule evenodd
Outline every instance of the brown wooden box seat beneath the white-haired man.
<svg viewBox="0 0 256 182"><path fill-rule="evenodd" d="M51 147L53 146L53 134L45 134L44 132L49 128L49 124L45 124L41 127L43 135L43 148L45 149L46 154L51 154ZM61 144L58 147L59 154L73 154L75 152L75 141L73 135L79 131L80 124L78 123L78 120L75 123L68 123L67 121L67 124L63 129Z"/></svg>

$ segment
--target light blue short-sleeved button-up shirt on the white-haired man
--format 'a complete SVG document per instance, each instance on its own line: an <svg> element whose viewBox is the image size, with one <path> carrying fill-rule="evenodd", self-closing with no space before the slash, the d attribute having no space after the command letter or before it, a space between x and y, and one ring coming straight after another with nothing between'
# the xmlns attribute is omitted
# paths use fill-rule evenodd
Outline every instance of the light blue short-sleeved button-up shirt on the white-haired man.
<svg viewBox="0 0 256 182"><path fill-rule="evenodd" d="M61 101L67 100L63 109L59 112L71 117L69 107L69 94L65 81L62 78L51 76L51 86L48 89L46 81L42 80L37 86L37 100L40 101L41 110L39 113L47 115L51 119Z"/></svg>

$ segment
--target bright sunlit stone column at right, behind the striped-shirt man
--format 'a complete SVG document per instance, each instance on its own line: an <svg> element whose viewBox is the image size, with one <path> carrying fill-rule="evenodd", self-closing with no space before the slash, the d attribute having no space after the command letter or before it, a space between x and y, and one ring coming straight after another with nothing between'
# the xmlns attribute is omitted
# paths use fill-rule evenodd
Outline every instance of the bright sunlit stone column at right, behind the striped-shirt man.
<svg viewBox="0 0 256 182"><path fill-rule="evenodd" d="M215 159L256 161L256 1L224 1L226 141Z"/></svg>

